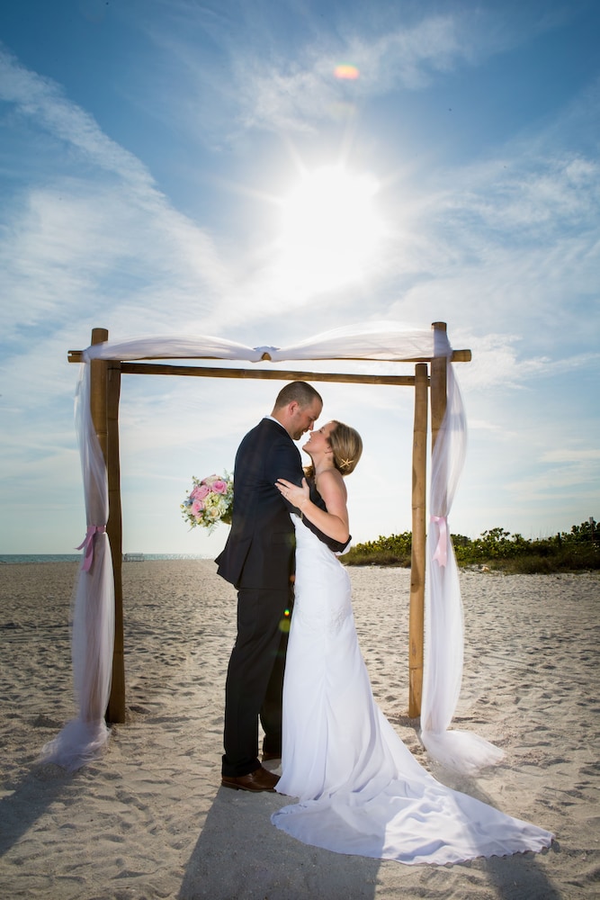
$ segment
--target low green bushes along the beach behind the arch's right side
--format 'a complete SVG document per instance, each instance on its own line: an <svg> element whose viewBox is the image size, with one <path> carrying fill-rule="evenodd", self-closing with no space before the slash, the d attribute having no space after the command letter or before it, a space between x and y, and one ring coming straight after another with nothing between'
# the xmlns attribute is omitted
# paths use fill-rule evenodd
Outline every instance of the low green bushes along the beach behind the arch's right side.
<svg viewBox="0 0 600 900"><path fill-rule="evenodd" d="M380 536L351 547L342 557L346 565L395 565L410 567L412 535L405 531ZM581 572L600 568L600 535L596 519L591 518L570 531L551 537L528 540L495 527L479 537L452 535L459 566L478 567L508 573Z"/></svg>

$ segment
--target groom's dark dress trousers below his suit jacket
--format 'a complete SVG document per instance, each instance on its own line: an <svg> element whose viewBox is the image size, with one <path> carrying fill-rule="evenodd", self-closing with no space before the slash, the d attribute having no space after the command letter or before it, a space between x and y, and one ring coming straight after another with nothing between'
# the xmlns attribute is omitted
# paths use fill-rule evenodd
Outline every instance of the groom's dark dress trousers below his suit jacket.
<svg viewBox="0 0 600 900"><path fill-rule="evenodd" d="M264 727L264 752L281 750L282 684L287 635L282 632L290 590L237 592L237 640L225 685L223 775L255 771L258 717Z"/></svg>

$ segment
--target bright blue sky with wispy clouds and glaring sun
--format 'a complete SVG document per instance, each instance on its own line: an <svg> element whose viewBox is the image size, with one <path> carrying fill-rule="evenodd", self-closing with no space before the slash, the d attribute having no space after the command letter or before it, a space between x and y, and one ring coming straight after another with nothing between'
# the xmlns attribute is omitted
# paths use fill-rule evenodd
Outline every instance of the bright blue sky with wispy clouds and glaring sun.
<svg viewBox="0 0 600 900"><path fill-rule="evenodd" d="M472 351L452 533L597 520L599 41L596 0L2 4L0 554L83 539L67 351L94 328L445 321ZM179 505L282 384L123 376L125 552L219 553ZM317 386L363 436L354 543L410 530L413 392Z"/></svg>

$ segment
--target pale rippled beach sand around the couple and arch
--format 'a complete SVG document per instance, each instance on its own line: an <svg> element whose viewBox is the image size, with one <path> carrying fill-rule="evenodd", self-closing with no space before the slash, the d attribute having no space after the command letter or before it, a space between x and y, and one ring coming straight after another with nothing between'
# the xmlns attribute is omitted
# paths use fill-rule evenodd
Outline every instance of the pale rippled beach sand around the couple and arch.
<svg viewBox="0 0 600 900"><path fill-rule="evenodd" d="M350 569L373 691L434 775L556 834L550 851L452 867L318 850L270 824L289 801L220 788L234 590L210 561L123 566L128 721L69 775L40 764L75 715L76 563L0 567L0 896L56 900L600 897L600 574L461 572L456 727L506 759L477 779L431 766L407 717L409 572Z"/></svg>

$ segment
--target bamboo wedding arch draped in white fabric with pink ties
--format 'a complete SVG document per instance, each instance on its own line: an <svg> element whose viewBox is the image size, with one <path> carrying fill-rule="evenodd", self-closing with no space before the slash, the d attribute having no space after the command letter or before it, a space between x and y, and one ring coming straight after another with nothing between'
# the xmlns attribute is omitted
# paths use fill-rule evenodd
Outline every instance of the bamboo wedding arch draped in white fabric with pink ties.
<svg viewBox="0 0 600 900"><path fill-rule="evenodd" d="M335 329L289 347L246 347L225 338L172 336L109 341L94 329L80 363L76 428L81 455L87 529L73 611L72 656L76 719L46 744L42 757L75 770L103 751L106 725L125 721L122 618L122 527L119 459L121 374L408 385L415 391L412 455L412 556L409 607L409 716L421 716L421 740L437 760L472 771L502 755L478 735L449 731L461 689L463 626L458 569L448 514L464 461L466 422L454 350L444 322L407 329L397 322L367 322ZM174 365L157 360L194 360ZM207 360L236 360L261 368L225 368ZM376 360L412 363L414 375L283 371L292 360ZM149 362L148 362L149 361ZM429 415L429 408L431 414ZM429 524L426 527L427 423L431 423ZM425 635L425 640L424 640Z"/></svg>

